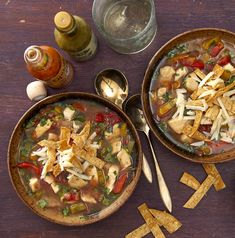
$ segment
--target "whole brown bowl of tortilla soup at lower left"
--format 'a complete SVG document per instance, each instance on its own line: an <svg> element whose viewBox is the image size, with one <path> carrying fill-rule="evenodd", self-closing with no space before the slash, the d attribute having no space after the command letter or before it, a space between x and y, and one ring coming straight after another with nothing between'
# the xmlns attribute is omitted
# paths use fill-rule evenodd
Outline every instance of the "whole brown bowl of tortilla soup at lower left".
<svg viewBox="0 0 235 238"><path fill-rule="evenodd" d="M141 173L142 152L129 118L88 93L62 93L31 107L8 148L12 184L39 216L85 225L118 210Z"/></svg>

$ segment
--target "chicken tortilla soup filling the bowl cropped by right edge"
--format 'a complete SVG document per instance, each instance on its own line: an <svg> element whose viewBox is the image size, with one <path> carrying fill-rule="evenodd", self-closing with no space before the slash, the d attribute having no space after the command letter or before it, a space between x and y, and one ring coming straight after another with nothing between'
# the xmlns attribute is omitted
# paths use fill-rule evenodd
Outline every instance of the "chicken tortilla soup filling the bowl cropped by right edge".
<svg viewBox="0 0 235 238"><path fill-rule="evenodd" d="M199 156L235 142L235 47L218 37L176 46L159 62L149 100L160 131Z"/></svg>

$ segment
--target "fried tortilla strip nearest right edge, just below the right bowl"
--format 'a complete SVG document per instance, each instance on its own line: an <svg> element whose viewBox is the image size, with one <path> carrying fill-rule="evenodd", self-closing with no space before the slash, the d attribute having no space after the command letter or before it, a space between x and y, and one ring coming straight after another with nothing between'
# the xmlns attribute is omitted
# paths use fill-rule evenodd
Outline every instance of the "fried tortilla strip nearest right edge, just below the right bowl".
<svg viewBox="0 0 235 238"><path fill-rule="evenodd" d="M202 166L208 175L212 175L215 178L214 187L217 192L226 188L226 185L214 164L202 164Z"/></svg>

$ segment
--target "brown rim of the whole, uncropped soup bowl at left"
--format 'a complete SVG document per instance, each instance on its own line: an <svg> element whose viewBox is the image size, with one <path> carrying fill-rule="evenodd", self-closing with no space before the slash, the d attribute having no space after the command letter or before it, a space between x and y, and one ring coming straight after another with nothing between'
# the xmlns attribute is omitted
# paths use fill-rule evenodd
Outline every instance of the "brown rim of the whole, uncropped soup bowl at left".
<svg viewBox="0 0 235 238"><path fill-rule="evenodd" d="M53 217L48 217L47 215L45 215L44 214L45 210L36 209L37 208L35 206L36 204L33 204L33 199L31 199L31 198L29 199L29 195L26 193L25 188L23 187L23 184L20 181L20 176L17 172L17 168L15 167L15 165L12 164L12 163L14 163L14 160L15 160L15 158L12 158L12 153L13 153L12 150L14 150L14 148L13 148L14 140L16 140L19 144L19 138L16 139L16 137L18 136L18 134L20 134L19 132L22 128L22 125L27 119L31 118L41 108L43 108L49 104L63 101L66 99L73 99L73 98L74 99L77 98L79 100L85 100L85 101L92 101L94 99L97 99L99 104L108 107L112 111L115 111L119 116L121 116L121 118L126 123L128 123L128 127L131 130L133 137L135 138L135 142L136 142L136 146L137 146L136 147L137 148L137 157L136 157L137 163L136 163L136 171L135 171L132 181L126 186L126 188L122 192L122 194L110 206L99 211L98 213L91 214L90 215L91 218L88 220L79 221L78 219L76 219L76 222L72 222L73 219L71 218L71 219L69 219L69 221L66 222L66 221L63 221L62 215L61 215L60 219L56 220ZM18 147L17 147L17 149L15 149L15 151L16 152L18 151ZM9 140L8 151L7 151L7 166L8 166L8 173L9 173L9 176L11 179L11 183L12 183L12 186L13 186L16 194L23 201L23 203L27 207L29 207L34 213L36 213L41 218L44 218L44 219L46 219L50 222L53 222L53 223L57 223L57 224L65 225L65 226L83 226L83 225L92 224L92 223L101 221L101 220L109 217L110 215L115 213L120 207L122 207L127 202L127 200L130 198L130 196L133 194L133 192L137 186L137 183L140 179L141 168L142 168L142 157L143 157L142 156L142 148L141 148L141 143L140 143L138 133L137 133L133 123L129 119L129 117L120 108L118 108L114 103L110 102L109 100L107 100L99 95L95 95L92 93L85 93L85 92L65 92L65 93L59 93L59 94L55 94L52 96L48 96L47 98L44 98L40 102L37 102L33 106L31 106L21 116L21 118L18 120L16 126L14 127L14 130L13 130L10 140ZM16 181L16 179L19 179L19 180ZM68 218L68 217L66 217L66 218Z"/></svg>

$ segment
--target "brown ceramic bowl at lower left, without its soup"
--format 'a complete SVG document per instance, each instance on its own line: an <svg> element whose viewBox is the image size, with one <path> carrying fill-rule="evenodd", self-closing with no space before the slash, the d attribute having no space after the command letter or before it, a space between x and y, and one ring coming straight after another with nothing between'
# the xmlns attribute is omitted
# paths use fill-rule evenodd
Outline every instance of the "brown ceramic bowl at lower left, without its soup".
<svg viewBox="0 0 235 238"><path fill-rule="evenodd" d="M90 216L89 219L87 220L81 220L78 218L78 216L64 217L62 214L59 214L58 212L55 212L54 210L50 210L50 209L42 210L38 208L33 198L31 198L26 193L25 188L21 182L18 169L16 168L17 154L19 150L19 141L24 130L23 124L25 123L25 121L27 121L32 116L34 116L41 108L45 107L46 105L54 103L54 102L64 101L66 99L82 99L86 101L93 101L115 111L127 123L128 128L130 129L136 142L136 149L137 149L137 156L135 158L136 170L135 170L135 175L132 181L127 185L126 189L123 191L120 197L117 200L115 200L109 207L101 210L99 213L96 213ZM12 133L12 136L9 142L9 147L8 147L8 170L9 170L12 184L18 196L37 215L51 222L59 223L62 225L68 225L68 226L80 226L80 225L94 223L99 220L102 220L103 218L117 211L133 193L140 177L141 168L142 168L142 151L141 151L140 140L136 132L136 129L134 125L132 124L132 122L130 121L130 119L115 104L111 103L110 101L100 96L88 94L88 93L78 93L78 92L62 93L62 94L57 94L54 96L47 97L46 99L36 103L21 117L21 119L17 123Z"/></svg>

